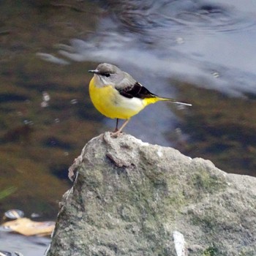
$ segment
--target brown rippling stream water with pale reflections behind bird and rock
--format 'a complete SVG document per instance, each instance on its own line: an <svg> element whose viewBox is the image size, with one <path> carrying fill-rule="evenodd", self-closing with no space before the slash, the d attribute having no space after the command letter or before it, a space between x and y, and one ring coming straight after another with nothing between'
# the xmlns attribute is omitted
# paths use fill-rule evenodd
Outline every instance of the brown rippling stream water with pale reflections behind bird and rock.
<svg viewBox="0 0 256 256"><path fill-rule="evenodd" d="M256 175L255 1L1 1L0 14L2 215L55 219L69 165L115 126L88 94L103 61L193 105L148 106L125 132ZM5 234L0 250L40 255Z"/></svg>

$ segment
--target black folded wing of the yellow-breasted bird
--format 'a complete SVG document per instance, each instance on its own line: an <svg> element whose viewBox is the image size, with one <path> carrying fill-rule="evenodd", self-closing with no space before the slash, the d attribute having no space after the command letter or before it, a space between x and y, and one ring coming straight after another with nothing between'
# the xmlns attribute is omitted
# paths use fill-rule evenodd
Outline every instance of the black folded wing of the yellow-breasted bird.
<svg viewBox="0 0 256 256"><path fill-rule="evenodd" d="M136 82L132 86L127 86L124 89L118 89L118 88L116 89L119 91L119 94L130 99L133 97L145 99L145 98L152 98L157 96L156 94L152 94L150 91L148 91L148 89L146 89L144 86L142 86L138 82Z"/></svg>

